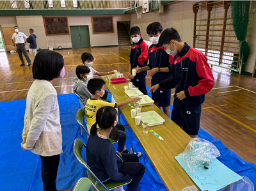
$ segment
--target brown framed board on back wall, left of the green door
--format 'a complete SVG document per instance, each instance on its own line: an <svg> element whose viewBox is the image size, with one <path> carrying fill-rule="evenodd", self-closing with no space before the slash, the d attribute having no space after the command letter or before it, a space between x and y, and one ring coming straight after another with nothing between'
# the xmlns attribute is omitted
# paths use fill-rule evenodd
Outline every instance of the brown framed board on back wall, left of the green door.
<svg viewBox="0 0 256 191"><path fill-rule="evenodd" d="M46 35L70 34L67 17L44 17Z"/></svg>

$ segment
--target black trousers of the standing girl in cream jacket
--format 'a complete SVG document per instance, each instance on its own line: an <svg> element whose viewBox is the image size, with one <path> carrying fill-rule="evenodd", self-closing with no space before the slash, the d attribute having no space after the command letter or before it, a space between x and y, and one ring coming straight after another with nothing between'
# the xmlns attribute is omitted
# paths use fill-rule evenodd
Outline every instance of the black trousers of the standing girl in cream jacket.
<svg viewBox="0 0 256 191"><path fill-rule="evenodd" d="M60 162L60 155L40 157L42 162L42 180L44 183L44 191L57 191L56 178Z"/></svg>

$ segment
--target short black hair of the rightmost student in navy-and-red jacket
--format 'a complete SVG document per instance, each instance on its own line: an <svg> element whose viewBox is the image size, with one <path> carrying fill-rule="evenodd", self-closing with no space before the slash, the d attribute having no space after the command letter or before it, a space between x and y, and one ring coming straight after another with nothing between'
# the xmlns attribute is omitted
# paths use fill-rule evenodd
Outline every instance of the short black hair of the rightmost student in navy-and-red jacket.
<svg viewBox="0 0 256 191"><path fill-rule="evenodd" d="M177 42L182 42L180 38L180 34L174 28L168 28L163 31L159 38L159 46L163 46L163 44L170 44L171 40L177 40Z"/></svg>

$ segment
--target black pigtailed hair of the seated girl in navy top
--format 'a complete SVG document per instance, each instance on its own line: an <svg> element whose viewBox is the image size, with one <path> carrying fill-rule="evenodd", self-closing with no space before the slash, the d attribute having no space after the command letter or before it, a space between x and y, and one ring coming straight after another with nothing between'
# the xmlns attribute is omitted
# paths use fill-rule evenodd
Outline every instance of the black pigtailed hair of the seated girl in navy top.
<svg viewBox="0 0 256 191"><path fill-rule="evenodd" d="M118 140L120 134L117 128L113 125L116 120L116 109L114 107L105 106L101 107L96 114L96 123L94 123L91 127L90 135L93 136L97 134L97 125L101 129L107 129L110 126L113 127L112 129L112 139Z"/></svg>

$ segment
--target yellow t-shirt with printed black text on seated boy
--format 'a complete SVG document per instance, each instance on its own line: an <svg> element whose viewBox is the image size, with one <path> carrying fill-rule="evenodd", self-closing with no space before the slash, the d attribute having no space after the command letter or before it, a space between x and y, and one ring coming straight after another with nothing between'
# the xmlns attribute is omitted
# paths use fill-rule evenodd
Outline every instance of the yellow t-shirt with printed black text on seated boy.
<svg viewBox="0 0 256 191"><path fill-rule="evenodd" d="M103 100L97 100L93 98L89 98L84 106L85 119L88 132L90 133L92 125L96 122L96 114L97 111L101 107L110 106L116 107L116 103L109 103Z"/></svg>

